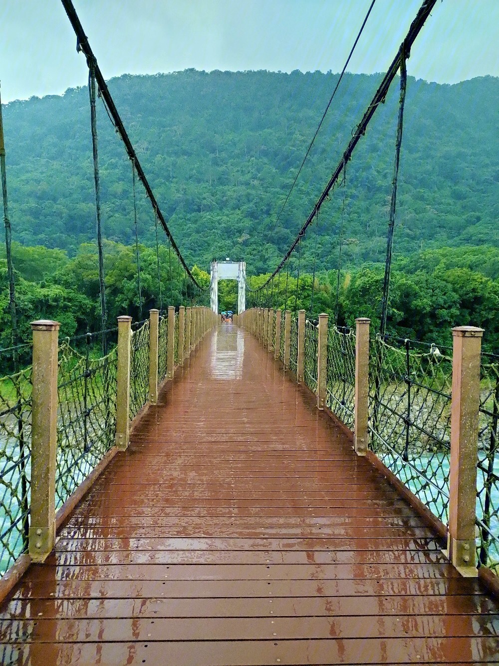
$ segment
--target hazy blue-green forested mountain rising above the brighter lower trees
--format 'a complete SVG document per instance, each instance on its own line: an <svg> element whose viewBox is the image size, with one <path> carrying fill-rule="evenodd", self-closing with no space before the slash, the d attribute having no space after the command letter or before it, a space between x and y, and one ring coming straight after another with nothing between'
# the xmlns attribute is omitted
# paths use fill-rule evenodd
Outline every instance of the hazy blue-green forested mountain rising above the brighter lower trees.
<svg viewBox="0 0 499 666"><path fill-rule="evenodd" d="M409 71L410 71L409 61ZM124 125L188 262L244 257L275 267L310 212L381 75L346 75L285 210L337 75L187 70L109 82ZM397 83L347 166L344 266L384 260L395 145ZM12 102L4 111L13 237L76 254L95 236L88 91ZM499 244L499 79L457 85L409 78L395 254ZM98 105L104 236L134 238L131 168ZM139 236L154 222L142 188ZM337 266L341 186L319 217L317 260ZM313 261L315 228L302 260ZM308 246L308 249L307 249Z"/></svg>

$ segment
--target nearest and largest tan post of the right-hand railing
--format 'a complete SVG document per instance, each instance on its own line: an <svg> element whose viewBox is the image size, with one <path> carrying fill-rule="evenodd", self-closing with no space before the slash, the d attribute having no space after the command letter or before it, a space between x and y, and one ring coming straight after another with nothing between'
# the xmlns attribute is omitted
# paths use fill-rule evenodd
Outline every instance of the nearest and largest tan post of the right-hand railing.
<svg viewBox="0 0 499 666"><path fill-rule="evenodd" d="M476 576L475 518L482 328L452 329L452 402L447 555L464 576Z"/></svg>

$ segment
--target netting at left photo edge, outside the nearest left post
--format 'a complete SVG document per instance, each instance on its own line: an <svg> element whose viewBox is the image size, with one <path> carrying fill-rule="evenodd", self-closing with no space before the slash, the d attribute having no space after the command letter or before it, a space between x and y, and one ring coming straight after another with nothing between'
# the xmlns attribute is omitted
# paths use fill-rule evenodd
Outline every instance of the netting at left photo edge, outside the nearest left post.
<svg viewBox="0 0 499 666"><path fill-rule="evenodd" d="M0 575L28 547L31 367L0 379Z"/></svg>

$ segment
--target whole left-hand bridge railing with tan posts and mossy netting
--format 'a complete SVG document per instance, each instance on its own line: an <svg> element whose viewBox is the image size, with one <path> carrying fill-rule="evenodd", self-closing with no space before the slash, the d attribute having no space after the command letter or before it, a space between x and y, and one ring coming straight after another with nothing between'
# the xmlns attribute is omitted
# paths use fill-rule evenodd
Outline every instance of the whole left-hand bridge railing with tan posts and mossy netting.
<svg viewBox="0 0 499 666"><path fill-rule="evenodd" d="M126 448L158 385L172 376L168 368L182 365L216 321L208 308L183 306L162 317L151 310L134 326L122 317L106 332L118 331L118 344L105 356L95 349L101 333L59 342L57 322L33 322L33 365L0 378L1 596L29 561L45 560L56 525Z"/></svg>

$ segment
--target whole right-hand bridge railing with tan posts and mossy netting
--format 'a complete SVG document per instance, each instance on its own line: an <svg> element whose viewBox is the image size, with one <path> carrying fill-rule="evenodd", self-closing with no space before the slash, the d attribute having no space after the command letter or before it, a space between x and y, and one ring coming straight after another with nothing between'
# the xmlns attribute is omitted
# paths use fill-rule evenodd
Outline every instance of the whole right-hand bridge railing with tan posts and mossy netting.
<svg viewBox="0 0 499 666"><path fill-rule="evenodd" d="M327 315L311 322L304 311L253 308L240 325L263 340L269 317L283 322L274 349L283 369L349 429L357 454L433 517L458 570L478 566L499 589L490 577L499 574L499 356L481 352L482 330L454 328L444 348L370 336L362 318L356 331L328 326Z"/></svg>

